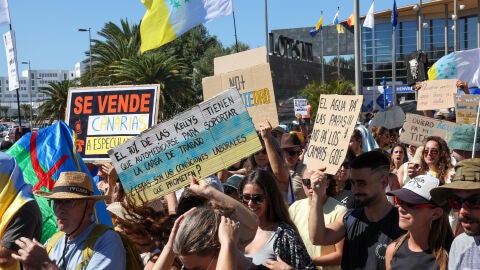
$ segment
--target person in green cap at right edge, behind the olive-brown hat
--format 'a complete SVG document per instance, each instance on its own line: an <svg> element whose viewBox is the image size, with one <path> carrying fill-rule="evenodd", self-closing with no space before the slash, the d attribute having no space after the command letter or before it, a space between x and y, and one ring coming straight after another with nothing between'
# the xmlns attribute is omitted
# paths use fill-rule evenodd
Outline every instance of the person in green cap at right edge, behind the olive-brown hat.
<svg viewBox="0 0 480 270"><path fill-rule="evenodd" d="M475 157L480 157L480 129L477 129L475 145L473 144L474 139L474 125L460 125L455 128L452 137L448 141L448 148L452 150L452 156L455 158L455 161L472 158L473 146L475 146Z"/></svg>

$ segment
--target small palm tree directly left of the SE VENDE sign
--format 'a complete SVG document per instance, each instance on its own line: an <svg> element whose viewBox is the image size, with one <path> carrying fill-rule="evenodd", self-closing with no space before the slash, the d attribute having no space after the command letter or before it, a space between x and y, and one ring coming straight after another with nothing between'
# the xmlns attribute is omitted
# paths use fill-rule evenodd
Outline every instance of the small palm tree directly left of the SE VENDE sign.
<svg viewBox="0 0 480 270"><path fill-rule="evenodd" d="M52 124L54 121L64 120L67 108L68 89L70 87L77 87L77 80L64 80L61 82L49 82L48 87L39 87L40 93L47 95L46 99L42 100L40 105L39 115L35 120L36 124L41 124L48 121Z"/></svg>

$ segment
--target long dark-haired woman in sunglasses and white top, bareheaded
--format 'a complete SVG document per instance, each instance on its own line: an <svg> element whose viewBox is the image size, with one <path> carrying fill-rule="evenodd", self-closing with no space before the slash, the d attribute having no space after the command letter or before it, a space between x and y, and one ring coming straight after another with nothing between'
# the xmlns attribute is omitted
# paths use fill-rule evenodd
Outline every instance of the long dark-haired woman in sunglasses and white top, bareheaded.
<svg viewBox="0 0 480 270"><path fill-rule="evenodd" d="M245 256L259 266L275 267L278 263L294 269L315 269L274 176L254 170L243 178L239 190L241 201L259 219L257 233L246 246Z"/></svg>

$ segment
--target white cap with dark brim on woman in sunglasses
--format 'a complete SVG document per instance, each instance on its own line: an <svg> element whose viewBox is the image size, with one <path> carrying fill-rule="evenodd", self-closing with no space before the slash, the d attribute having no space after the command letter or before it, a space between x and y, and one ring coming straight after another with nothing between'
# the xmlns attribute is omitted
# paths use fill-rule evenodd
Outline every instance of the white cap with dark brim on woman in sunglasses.
<svg viewBox="0 0 480 270"><path fill-rule="evenodd" d="M411 204L432 203L430 190L438 187L440 181L431 175L418 175L408 181L401 189L387 192L389 196L397 196L400 200Z"/></svg>

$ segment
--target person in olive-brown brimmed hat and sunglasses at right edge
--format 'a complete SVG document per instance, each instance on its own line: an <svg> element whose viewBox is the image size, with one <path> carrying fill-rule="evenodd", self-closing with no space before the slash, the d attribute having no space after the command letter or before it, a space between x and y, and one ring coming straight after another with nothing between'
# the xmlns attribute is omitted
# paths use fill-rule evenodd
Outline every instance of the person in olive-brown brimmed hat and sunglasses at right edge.
<svg viewBox="0 0 480 270"><path fill-rule="evenodd" d="M430 191L437 204L448 203L458 211L464 233L452 243L448 269L478 269L480 266L480 159L465 159L455 166L452 182Z"/></svg>

